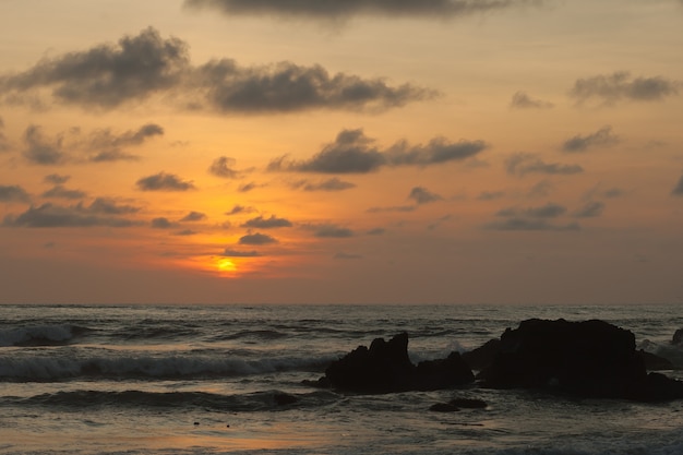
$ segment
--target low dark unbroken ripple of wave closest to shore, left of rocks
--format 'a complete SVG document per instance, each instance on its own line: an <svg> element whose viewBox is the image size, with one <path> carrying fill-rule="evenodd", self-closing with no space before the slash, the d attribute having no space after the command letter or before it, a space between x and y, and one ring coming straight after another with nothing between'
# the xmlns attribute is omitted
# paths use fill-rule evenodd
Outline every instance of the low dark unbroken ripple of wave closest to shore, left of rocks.
<svg viewBox="0 0 683 455"><path fill-rule="evenodd" d="M93 406L115 406L134 408L200 407L220 411L262 411L322 406L338 399L340 396L329 391L290 394L274 390L237 395L206 392L73 391L46 393L27 398L7 397L3 402L21 406L48 406L73 410L82 410L83 407Z"/></svg>

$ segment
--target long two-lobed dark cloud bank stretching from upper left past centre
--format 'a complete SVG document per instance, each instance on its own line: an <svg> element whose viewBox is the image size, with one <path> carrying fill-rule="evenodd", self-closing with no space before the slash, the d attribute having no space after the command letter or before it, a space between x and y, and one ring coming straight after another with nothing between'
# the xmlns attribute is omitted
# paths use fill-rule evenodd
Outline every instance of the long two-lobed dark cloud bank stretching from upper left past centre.
<svg viewBox="0 0 683 455"><path fill-rule="evenodd" d="M390 85L381 77L331 74L317 64L240 67L224 58L194 67L188 44L165 39L152 27L116 45L46 58L26 71L0 74L0 100L31 104L45 94L58 104L88 110L158 95L182 110L223 113L384 110L439 95L411 84Z"/></svg>

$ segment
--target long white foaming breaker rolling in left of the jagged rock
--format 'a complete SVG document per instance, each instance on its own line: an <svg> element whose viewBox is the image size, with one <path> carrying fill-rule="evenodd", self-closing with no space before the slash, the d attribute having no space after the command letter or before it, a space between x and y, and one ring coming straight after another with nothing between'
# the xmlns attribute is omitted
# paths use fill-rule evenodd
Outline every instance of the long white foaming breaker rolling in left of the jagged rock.
<svg viewBox="0 0 683 455"><path fill-rule="evenodd" d="M52 382L77 378L141 380L229 378L283 371L322 371L334 359L327 356L254 360L207 356L88 358L0 356L0 381Z"/></svg>

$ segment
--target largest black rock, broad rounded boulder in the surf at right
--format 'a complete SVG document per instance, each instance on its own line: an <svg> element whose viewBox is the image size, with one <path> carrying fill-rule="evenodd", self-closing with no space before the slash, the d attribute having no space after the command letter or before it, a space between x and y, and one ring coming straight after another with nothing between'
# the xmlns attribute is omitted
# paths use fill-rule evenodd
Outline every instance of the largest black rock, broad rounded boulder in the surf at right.
<svg viewBox="0 0 683 455"><path fill-rule="evenodd" d="M544 388L580 397L683 398L680 382L651 374L630 331L598 320L528 320L503 333L501 350L480 379L488 387Z"/></svg>

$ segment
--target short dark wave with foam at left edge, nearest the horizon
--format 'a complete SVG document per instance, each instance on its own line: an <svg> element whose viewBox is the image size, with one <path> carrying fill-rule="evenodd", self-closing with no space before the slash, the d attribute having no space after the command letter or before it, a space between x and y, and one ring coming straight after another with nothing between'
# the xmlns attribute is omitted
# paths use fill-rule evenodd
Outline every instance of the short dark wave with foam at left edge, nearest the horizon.
<svg viewBox="0 0 683 455"><path fill-rule="evenodd" d="M0 347L60 346L91 332L72 324L35 325L0 330Z"/></svg>

